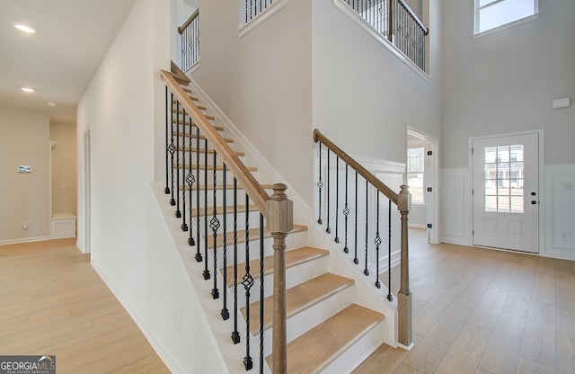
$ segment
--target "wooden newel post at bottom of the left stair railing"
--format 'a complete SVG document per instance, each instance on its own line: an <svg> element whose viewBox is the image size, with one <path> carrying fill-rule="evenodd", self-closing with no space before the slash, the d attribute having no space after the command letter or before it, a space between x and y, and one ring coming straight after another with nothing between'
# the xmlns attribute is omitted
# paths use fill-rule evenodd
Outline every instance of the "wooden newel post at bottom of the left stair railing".
<svg viewBox="0 0 575 374"><path fill-rule="evenodd" d="M274 374L288 372L288 340L286 334L286 236L294 228L294 204L288 200L283 183L273 185L273 195L266 202L267 226L273 236L273 340L272 368Z"/></svg>

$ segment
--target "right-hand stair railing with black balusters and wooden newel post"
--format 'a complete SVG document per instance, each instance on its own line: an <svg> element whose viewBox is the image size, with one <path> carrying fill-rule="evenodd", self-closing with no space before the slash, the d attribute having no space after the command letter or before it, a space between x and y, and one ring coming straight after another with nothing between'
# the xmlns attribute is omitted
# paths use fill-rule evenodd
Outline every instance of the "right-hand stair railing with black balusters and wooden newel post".
<svg viewBox="0 0 575 374"><path fill-rule="evenodd" d="M362 267L362 272L373 279L378 289L382 287L380 272L385 270L385 266L387 267L386 298L389 301L393 301L394 298L391 292L392 257L394 253L399 253L401 281L397 295L398 340L399 343L409 346L412 340L407 242L407 218L411 198L408 188L403 185L399 193L394 192L317 129L314 130L314 141L318 143L319 163L317 222L325 225L325 232L333 236L335 243L341 245L341 250L349 255L350 261ZM353 174L351 175L352 183L349 181L349 172ZM353 198L349 199L349 195ZM341 208L340 200L343 202L343 208ZM350 200L354 202L351 203ZM381 210L385 209L385 205L387 214L382 216ZM393 205L397 207L401 217L401 219L395 218L401 225L398 230L400 231L399 240L395 242L392 242ZM350 214L353 215L353 220L349 219ZM341 229L343 230L342 244ZM385 234L387 234L387 243L385 243ZM387 249L386 255L380 254L383 247ZM352 253L350 249L353 250Z"/></svg>

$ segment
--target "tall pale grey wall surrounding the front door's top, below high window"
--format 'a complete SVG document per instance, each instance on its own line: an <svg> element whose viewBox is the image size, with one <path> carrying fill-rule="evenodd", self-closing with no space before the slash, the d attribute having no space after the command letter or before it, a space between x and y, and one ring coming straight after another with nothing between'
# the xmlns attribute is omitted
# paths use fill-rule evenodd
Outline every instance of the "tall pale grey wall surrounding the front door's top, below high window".
<svg viewBox="0 0 575 374"><path fill-rule="evenodd" d="M545 164L575 163L575 2L539 2L539 18L473 39L473 1L444 1L443 166L467 167L467 139L544 129Z"/></svg>

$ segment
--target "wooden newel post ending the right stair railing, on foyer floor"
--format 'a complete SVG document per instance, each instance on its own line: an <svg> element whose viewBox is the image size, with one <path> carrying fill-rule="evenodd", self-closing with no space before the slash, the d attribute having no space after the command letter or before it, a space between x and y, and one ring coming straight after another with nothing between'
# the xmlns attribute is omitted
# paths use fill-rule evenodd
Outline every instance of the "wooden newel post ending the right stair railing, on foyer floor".
<svg viewBox="0 0 575 374"><path fill-rule="evenodd" d="M402 257L401 280L397 295L398 341L405 347L412 343L411 337L411 292L410 258L407 232L407 216L411 209L411 195L408 186L403 185L397 194L397 209L402 213Z"/></svg>

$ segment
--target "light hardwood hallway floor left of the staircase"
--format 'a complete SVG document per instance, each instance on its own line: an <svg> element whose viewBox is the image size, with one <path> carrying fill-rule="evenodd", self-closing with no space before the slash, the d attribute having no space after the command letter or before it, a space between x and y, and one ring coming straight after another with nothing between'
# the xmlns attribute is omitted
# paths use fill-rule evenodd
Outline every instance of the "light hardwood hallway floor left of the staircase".
<svg viewBox="0 0 575 374"><path fill-rule="evenodd" d="M0 245L0 354L56 355L58 374L169 373L74 243Z"/></svg>

